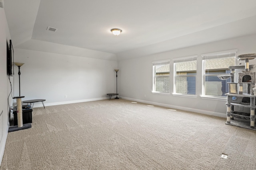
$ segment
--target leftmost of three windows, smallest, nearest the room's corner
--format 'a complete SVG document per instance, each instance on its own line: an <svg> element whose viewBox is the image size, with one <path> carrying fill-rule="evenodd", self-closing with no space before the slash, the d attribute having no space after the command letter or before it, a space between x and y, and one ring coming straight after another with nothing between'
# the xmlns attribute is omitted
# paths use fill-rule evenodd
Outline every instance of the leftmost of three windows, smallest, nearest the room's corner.
<svg viewBox="0 0 256 170"><path fill-rule="evenodd" d="M153 92L170 93L170 60L154 61Z"/></svg>

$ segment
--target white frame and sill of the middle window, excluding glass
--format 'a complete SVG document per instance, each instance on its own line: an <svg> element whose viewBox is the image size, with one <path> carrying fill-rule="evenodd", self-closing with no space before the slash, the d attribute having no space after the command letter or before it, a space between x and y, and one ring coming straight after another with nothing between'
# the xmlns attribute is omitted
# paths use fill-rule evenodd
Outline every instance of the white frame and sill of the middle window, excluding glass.
<svg viewBox="0 0 256 170"><path fill-rule="evenodd" d="M172 61L174 62L173 63L173 66L174 66L174 80L173 80L173 96L184 96L184 97L196 97L196 85L195 85L195 94L188 94L188 93L176 93L176 83L177 83L177 80L176 78L177 77L195 77L195 83L196 83L196 75L177 75L177 71L176 71L176 63L182 63L182 62L187 62L187 61L196 61L196 73L197 73L197 57L198 55L191 55L191 56L186 56L186 57L179 57L179 58L174 58L172 59Z"/></svg>

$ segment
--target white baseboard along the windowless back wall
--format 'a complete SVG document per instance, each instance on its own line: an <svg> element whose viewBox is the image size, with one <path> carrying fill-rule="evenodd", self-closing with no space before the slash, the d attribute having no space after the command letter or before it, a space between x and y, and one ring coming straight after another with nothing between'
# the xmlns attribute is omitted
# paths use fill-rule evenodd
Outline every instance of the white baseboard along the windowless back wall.
<svg viewBox="0 0 256 170"><path fill-rule="evenodd" d="M108 97L104 98L94 98L94 99L83 99L83 100L72 100L72 101L65 101L65 102L54 102L54 103L44 103L44 106L55 106L55 105L61 105L61 104L72 104L72 103L81 103L81 102L91 102L91 101L97 101L97 100L105 100L108 99ZM47 101L47 100L46 100ZM42 102L34 103L34 107L44 107Z"/></svg>

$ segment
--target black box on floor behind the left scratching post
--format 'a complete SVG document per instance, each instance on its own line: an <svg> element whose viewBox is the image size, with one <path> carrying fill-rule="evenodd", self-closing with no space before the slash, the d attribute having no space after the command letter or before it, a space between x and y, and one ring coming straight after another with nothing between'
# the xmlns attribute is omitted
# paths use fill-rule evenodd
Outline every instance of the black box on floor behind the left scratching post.
<svg viewBox="0 0 256 170"><path fill-rule="evenodd" d="M32 123L32 111L31 107L22 107L22 120L23 124ZM17 107L13 108L14 126L18 125Z"/></svg>

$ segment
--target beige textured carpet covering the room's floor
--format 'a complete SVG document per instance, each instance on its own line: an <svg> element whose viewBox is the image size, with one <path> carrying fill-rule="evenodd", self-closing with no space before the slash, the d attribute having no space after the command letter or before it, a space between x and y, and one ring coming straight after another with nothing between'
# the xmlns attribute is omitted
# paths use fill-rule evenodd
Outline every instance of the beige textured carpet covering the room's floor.
<svg viewBox="0 0 256 170"><path fill-rule="evenodd" d="M224 118L122 99L32 115L32 128L8 133L1 170L256 169L256 131Z"/></svg>

